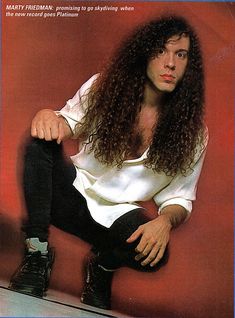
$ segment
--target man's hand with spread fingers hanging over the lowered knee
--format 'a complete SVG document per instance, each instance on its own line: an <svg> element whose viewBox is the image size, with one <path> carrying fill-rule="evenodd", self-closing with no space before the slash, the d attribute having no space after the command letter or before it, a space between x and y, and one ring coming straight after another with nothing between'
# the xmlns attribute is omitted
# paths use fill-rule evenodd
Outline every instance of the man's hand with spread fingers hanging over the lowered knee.
<svg viewBox="0 0 235 318"><path fill-rule="evenodd" d="M127 243L133 243L141 237L135 249L137 252L135 260L141 260L142 266L148 264L151 267L155 266L164 255L170 239L171 228L171 222L165 215L160 215L156 219L139 226L127 239Z"/></svg>

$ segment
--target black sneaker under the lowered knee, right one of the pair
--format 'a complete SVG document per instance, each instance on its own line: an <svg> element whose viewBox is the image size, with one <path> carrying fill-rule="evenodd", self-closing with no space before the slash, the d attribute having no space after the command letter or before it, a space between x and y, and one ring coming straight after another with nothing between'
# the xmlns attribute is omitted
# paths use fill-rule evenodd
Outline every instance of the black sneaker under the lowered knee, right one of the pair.
<svg viewBox="0 0 235 318"><path fill-rule="evenodd" d="M81 302L90 306L111 309L111 283L113 271L104 270L91 258L86 268L86 281Z"/></svg>

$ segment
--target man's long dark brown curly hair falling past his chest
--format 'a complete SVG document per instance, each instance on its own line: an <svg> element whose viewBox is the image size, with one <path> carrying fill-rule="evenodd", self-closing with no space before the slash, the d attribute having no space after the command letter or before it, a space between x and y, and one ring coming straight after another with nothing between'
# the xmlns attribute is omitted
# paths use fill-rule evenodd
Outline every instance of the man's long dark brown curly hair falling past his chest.
<svg viewBox="0 0 235 318"><path fill-rule="evenodd" d="M166 93L145 165L174 176L191 169L204 140L204 72L198 37L181 17L163 17L140 26L120 46L87 96L84 120L77 125L90 151L106 165L121 167L131 153L136 120L143 103L148 62L173 35L190 39L183 79Z"/></svg>

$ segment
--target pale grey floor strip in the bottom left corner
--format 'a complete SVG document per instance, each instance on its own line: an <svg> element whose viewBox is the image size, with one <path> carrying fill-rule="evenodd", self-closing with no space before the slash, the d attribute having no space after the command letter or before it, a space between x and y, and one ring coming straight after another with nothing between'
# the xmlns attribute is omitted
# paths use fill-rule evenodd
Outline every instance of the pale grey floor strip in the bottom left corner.
<svg viewBox="0 0 235 318"><path fill-rule="evenodd" d="M120 313L81 304L75 297L48 291L46 298L23 295L0 282L0 317L126 318Z"/></svg>

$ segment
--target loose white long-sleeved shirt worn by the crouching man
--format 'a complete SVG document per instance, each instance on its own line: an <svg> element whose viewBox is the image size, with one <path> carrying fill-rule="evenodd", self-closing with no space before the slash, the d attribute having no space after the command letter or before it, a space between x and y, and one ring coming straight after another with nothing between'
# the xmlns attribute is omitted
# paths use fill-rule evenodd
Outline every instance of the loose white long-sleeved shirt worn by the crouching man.
<svg viewBox="0 0 235 318"><path fill-rule="evenodd" d="M84 116L86 94L97 76L83 84L58 112L66 118L73 132ZM126 212L138 208L138 201L150 199L154 199L159 214L164 207L172 204L178 204L190 213L192 201L196 199L206 143L203 149L197 149L193 171L187 176L178 173L175 177L164 172L156 173L144 166L148 149L140 158L125 160L118 168L102 164L93 152L89 153L89 146L82 146L79 153L71 157L77 171L73 185L86 198L93 219L105 227L110 227Z"/></svg>

